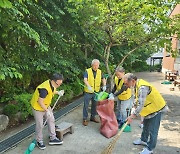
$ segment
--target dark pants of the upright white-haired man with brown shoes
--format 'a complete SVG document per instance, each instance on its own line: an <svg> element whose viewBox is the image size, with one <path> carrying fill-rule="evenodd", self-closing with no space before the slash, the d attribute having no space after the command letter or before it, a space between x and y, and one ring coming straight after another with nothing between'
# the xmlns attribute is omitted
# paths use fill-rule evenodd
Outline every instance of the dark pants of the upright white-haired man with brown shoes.
<svg viewBox="0 0 180 154"><path fill-rule="evenodd" d="M94 118L97 115L96 112L96 101L94 100L95 94L84 93L84 107L83 107L83 120L88 118L88 106L91 100L91 118Z"/></svg>

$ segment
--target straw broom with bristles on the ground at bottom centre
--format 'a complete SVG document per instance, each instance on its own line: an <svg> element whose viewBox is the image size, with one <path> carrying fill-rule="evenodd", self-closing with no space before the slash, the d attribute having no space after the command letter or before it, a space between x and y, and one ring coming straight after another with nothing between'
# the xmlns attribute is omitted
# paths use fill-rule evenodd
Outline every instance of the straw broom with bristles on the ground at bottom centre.
<svg viewBox="0 0 180 154"><path fill-rule="evenodd" d="M126 128L127 126L127 122L123 125L123 127L121 128L121 130L118 132L118 134L112 139L112 141L109 143L109 145L101 152L101 154L112 154L112 150L115 147L115 144L117 142L117 140L119 139L121 133L123 132L123 130Z"/></svg>

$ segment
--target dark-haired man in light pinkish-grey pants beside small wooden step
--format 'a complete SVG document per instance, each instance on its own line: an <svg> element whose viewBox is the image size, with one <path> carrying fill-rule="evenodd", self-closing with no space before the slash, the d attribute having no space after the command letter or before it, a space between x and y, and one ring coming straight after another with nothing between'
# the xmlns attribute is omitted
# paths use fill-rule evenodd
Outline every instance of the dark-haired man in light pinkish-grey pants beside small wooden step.
<svg viewBox="0 0 180 154"><path fill-rule="evenodd" d="M55 132L55 119L50 107L51 100L54 94L58 94L60 96L64 95L64 90L56 91L63 82L63 75L59 73L55 73L49 80L44 81L42 84L37 86L32 99L31 106L33 110L33 115L35 118L35 133L36 133L36 141L37 146L44 150L46 146L43 143L43 118L47 119L48 131L50 136L50 145L60 145L63 141L59 140L56 137Z"/></svg>

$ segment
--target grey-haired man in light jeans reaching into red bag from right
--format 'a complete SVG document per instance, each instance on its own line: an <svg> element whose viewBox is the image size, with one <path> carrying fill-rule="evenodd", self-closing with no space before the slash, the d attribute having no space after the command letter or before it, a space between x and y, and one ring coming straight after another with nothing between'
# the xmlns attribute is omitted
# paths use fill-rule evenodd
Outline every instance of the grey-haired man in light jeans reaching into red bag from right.
<svg viewBox="0 0 180 154"><path fill-rule="evenodd" d="M115 84L114 88L112 89L113 97L118 97L117 101L117 121L119 128L122 127L122 125L125 123L125 120L127 119L130 110L132 108L132 93L131 89L126 87L124 85L123 76L125 74L125 70L123 67L118 67L115 70Z"/></svg>

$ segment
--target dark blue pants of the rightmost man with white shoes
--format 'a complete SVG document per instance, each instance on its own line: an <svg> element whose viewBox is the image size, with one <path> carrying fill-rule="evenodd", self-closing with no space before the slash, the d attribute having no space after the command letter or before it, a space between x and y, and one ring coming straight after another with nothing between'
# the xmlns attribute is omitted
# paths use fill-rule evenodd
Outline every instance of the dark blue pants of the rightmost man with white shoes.
<svg viewBox="0 0 180 154"><path fill-rule="evenodd" d="M157 136L161 121L161 112L150 119L144 119L144 127L141 134L141 140L147 142L147 148L151 151L156 147Z"/></svg>

